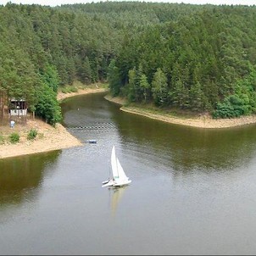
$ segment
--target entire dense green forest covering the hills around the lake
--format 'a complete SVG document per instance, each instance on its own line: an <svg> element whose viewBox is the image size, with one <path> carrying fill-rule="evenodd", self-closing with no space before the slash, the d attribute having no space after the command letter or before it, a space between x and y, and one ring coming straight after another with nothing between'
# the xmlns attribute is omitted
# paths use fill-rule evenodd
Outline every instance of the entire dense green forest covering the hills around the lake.
<svg viewBox="0 0 256 256"><path fill-rule="evenodd" d="M100 2L0 5L0 109L25 98L50 124L58 87L214 118L256 112L256 6Z"/></svg>

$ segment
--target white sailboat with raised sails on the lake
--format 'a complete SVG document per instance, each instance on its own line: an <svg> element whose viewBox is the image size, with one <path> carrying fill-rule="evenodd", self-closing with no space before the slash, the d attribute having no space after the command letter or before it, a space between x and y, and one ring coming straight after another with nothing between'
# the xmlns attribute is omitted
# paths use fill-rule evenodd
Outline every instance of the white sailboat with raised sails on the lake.
<svg viewBox="0 0 256 256"><path fill-rule="evenodd" d="M111 170L112 176L108 181L103 181L103 186L125 186L131 183L131 180L125 175L125 170L120 164L120 160L116 157L115 148L112 147L111 153Z"/></svg>

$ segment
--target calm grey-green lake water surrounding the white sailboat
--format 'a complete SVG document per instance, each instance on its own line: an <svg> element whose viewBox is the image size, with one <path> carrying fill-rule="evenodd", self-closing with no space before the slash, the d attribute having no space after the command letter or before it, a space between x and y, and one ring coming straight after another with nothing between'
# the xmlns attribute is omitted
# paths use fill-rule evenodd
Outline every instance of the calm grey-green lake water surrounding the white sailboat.
<svg viewBox="0 0 256 256"><path fill-rule="evenodd" d="M63 103L82 147L0 160L0 253L255 254L256 126L165 124L103 95ZM101 187L113 145L119 189Z"/></svg>

